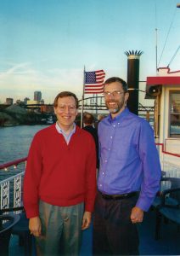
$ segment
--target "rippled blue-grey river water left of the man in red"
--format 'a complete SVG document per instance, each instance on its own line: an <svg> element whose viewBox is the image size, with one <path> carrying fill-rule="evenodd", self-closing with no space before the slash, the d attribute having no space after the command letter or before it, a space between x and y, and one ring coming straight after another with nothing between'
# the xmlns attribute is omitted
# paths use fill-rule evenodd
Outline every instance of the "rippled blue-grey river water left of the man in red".
<svg viewBox="0 0 180 256"><path fill-rule="evenodd" d="M0 128L0 165L26 157L34 135L47 126L21 125ZM0 170L0 181L18 172L22 172L19 166L17 169L8 168L7 172Z"/></svg>

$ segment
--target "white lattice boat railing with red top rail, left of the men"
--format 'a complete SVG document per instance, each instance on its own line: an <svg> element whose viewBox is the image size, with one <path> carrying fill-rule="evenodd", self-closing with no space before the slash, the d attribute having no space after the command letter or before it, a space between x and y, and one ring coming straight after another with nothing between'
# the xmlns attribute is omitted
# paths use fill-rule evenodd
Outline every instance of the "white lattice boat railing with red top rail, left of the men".
<svg viewBox="0 0 180 256"><path fill-rule="evenodd" d="M0 165L0 172L6 177L0 181L0 209L22 205L22 185L27 158L10 161ZM17 174L14 175L14 170Z"/></svg>

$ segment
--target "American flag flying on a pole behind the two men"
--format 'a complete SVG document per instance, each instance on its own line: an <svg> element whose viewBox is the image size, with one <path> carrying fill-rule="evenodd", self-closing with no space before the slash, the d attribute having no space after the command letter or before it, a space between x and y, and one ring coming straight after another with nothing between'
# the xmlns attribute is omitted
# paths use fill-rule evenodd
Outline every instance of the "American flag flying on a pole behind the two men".
<svg viewBox="0 0 180 256"><path fill-rule="evenodd" d="M104 92L104 70L85 72L84 93L103 93Z"/></svg>

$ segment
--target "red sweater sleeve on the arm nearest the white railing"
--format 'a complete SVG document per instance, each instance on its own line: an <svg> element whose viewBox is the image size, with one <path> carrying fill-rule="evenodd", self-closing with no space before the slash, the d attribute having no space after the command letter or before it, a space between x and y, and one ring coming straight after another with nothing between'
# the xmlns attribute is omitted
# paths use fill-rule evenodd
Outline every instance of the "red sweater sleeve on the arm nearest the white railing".
<svg viewBox="0 0 180 256"><path fill-rule="evenodd" d="M23 201L27 218L33 218L39 215L38 187L42 173L41 152L40 139L38 135L36 135L32 140L31 148L29 150L23 186Z"/></svg>

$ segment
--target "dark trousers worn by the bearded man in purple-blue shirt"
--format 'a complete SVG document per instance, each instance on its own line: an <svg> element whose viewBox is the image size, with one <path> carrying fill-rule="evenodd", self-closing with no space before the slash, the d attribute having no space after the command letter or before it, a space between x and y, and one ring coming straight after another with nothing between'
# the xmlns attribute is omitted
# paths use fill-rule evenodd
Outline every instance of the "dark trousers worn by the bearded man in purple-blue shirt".
<svg viewBox="0 0 180 256"><path fill-rule="evenodd" d="M137 224L130 215L137 196L107 200L98 193L93 218L93 255L138 255Z"/></svg>

